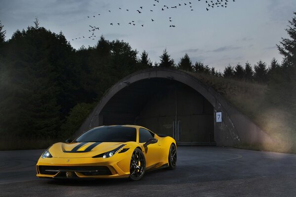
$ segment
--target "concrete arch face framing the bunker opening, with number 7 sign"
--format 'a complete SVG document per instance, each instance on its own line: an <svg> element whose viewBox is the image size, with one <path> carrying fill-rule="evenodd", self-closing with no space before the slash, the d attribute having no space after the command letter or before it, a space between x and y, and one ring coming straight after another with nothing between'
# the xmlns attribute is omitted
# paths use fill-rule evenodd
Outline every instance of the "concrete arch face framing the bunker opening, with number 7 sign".
<svg viewBox="0 0 296 197"><path fill-rule="evenodd" d="M274 140L258 126L256 126L249 118L244 116L235 107L229 104L220 94L214 89L202 83L199 79L180 70L167 68L151 68L135 72L116 83L111 87L109 92L101 99L99 104L85 120L79 130L79 133L99 126L99 114L106 103L118 93L124 90L128 84L132 84L139 80L149 78L169 78L186 84L214 106L214 112L222 112L222 122L216 123L214 121L215 141L220 146L233 146L239 143L248 144L264 144L273 143ZM215 116L215 114L214 114Z"/></svg>

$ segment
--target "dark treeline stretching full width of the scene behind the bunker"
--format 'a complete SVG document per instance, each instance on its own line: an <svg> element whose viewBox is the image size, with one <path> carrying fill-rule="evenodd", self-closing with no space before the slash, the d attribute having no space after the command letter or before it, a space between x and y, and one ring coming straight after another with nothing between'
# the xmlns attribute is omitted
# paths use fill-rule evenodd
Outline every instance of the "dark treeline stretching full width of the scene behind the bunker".
<svg viewBox="0 0 296 197"><path fill-rule="evenodd" d="M0 134L67 137L115 82L153 66L267 83L270 102L295 111L296 18L290 23L291 39L278 46L282 64L273 59L269 66L259 61L253 68L247 62L223 72L192 64L187 54L176 64L166 49L153 64L146 51L103 36L95 46L75 50L62 32L39 27L37 20L5 41L0 24Z"/></svg>

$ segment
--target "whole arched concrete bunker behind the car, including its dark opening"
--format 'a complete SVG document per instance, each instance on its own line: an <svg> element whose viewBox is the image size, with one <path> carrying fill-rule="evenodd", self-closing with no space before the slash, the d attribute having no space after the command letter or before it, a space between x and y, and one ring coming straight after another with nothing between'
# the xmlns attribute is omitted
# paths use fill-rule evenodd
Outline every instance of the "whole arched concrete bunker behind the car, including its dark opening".
<svg viewBox="0 0 296 197"><path fill-rule="evenodd" d="M221 112L221 122L217 112ZM178 145L272 142L214 89L186 72L168 68L141 70L117 82L75 134L125 124L170 135Z"/></svg>

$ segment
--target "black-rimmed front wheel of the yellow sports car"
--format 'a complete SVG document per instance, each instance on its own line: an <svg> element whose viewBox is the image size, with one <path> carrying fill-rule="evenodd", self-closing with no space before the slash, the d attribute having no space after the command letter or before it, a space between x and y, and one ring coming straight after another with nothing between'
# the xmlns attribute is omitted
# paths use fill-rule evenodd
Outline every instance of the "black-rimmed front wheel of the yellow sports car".
<svg viewBox="0 0 296 197"><path fill-rule="evenodd" d="M146 160L145 156L141 149L136 148L131 157L130 164L130 180L138 181L140 180L144 174L146 169Z"/></svg>

